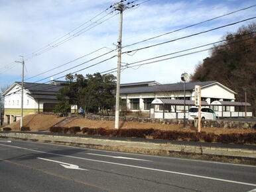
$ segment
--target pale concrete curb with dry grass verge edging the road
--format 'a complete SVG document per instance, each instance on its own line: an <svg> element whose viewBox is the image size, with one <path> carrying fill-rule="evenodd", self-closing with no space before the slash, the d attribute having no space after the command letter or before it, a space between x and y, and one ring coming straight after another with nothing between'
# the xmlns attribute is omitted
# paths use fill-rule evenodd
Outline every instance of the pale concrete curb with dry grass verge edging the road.
<svg viewBox="0 0 256 192"><path fill-rule="evenodd" d="M205 146L189 146L181 144L156 144L151 142L134 142L124 140L106 140L100 138L81 138L76 136L55 136L45 134L28 134L8 132L0 133L1 138L14 138L21 140L32 140L36 142L50 142L81 146L86 148L97 148L101 150L114 150L119 152L133 152L140 154L178 156L187 158L199 158L207 160L221 160L256 164L256 150L241 148L216 148ZM222 158L226 160L222 160ZM234 161L235 160L235 161Z"/></svg>

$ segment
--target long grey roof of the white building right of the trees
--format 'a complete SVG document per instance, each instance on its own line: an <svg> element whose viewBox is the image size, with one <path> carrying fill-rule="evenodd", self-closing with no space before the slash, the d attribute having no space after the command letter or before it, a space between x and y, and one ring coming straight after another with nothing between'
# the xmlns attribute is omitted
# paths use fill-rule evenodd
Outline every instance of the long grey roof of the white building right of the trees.
<svg viewBox="0 0 256 192"><path fill-rule="evenodd" d="M186 90L193 90L195 85L206 86L217 81L194 81L186 83ZM148 87L120 87L121 94L127 93L154 93L154 92L164 92L164 91L182 91L184 90L184 83L172 83L164 85L153 85Z"/></svg>

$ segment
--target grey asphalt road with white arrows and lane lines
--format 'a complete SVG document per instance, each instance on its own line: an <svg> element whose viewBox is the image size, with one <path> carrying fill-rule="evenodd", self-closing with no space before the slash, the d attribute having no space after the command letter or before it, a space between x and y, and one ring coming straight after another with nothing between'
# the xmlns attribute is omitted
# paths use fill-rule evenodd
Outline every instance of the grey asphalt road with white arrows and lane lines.
<svg viewBox="0 0 256 192"><path fill-rule="evenodd" d="M251 191L256 166L0 139L0 191Z"/></svg>

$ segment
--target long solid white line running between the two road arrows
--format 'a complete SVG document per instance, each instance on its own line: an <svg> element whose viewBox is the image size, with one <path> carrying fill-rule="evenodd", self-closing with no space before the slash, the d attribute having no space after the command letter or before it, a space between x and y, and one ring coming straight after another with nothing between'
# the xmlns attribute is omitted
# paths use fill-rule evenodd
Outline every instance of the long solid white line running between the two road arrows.
<svg viewBox="0 0 256 192"><path fill-rule="evenodd" d="M141 167L141 166L132 166L132 165L129 165L129 164L118 164L118 163L114 163L114 162L105 162L105 161L101 161L101 160L93 160L93 159L89 159L89 158L80 158L80 157L76 157L76 156L65 156L65 155L62 155L62 154L54 154L54 153L42 152L42 151L38 151L38 150L31 150L29 148L21 148L21 147L18 147L18 146L8 146L8 145L5 145L5 144L0 144L0 146L7 146L7 147L11 147L11 148L19 148L19 149L23 149L23 150L29 150L29 151L32 151L32 152L38 152L38 153L43 153L43 154L51 154L51 155L55 155L55 156L75 158L75 159L87 160L87 161L92 161L92 162L100 162L100 163L104 163L104 164L113 164L113 165L117 165L117 166L125 166L125 167L130 167L130 168L148 169L148 170L151 170L151 171L159 171L159 172L164 172L164 173L173 173L173 174L177 174L177 175L186 175L186 176L190 176L190 177L198 177L198 178L202 178L202 179L211 179L211 180L215 180L215 181L224 181L224 182L227 182L227 183L235 183L235 184L249 185L249 186L255 186L256 187L255 183L245 183L245 182L233 181L233 180L228 180L228 179L219 179L219 178L216 178L216 177L207 177L207 176L202 176L202 175L182 173L182 172L177 172L177 171L168 171L168 170L163 170L163 169L154 169L154 168L146 168L146 167Z"/></svg>

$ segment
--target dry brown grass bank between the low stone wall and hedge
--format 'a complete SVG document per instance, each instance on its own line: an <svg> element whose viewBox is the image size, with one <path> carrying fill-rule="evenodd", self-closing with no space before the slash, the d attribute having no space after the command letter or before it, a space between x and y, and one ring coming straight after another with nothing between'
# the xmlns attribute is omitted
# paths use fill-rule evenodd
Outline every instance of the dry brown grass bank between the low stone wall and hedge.
<svg viewBox="0 0 256 192"><path fill-rule="evenodd" d="M88 119L76 119L65 126L80 126L80 128L89 127L89 128L113 128L114 121L102 121L102 120L88 120ZM160 123L149 123L149 122L119 122L120 128L155 128L161 130L178 130L178 131L187 131L194 132L196 128L187 126L182 128L183 124L160 124ZM247 133L247 132L256 132L254 129L245 129L245 128L202 128L202 131L205 132L214 132L215 134L224 134L224 133Z"/></svg>

